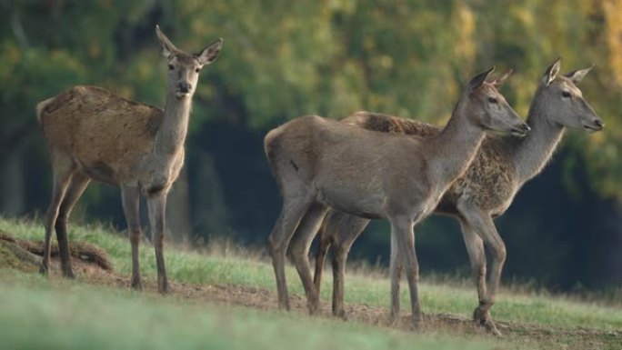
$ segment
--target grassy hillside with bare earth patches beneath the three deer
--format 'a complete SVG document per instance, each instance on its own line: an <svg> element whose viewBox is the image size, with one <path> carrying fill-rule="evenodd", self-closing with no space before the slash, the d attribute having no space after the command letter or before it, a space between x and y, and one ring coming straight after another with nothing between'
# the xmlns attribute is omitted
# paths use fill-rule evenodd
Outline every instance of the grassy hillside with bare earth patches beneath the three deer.
<svg viewBox="0 0 622 350"><path fill-rule="evenodd" d="M39 240L41 225L0 218L0 229ZM622 306L577 302L546 294L504 290L493 315L505 336L493 338L465 321L477 295L470 284L421 282L427 325L416 332L388 328L389 285L378 274L349 274L346 311L353 321L329 317L330 281L322 291L323 316L308 317L296 272L287 270L295 311L276 312L272 266L260 255L222 245L209 252L168 246L166 264L176 284L165 297L149 292L156 275L153 249L141 249L147 291L128 290L129 242L92 227L70 228L70 240L84 240L111 255L116 275L78 279L0 269L0 337L9 348L210 347L210 348L611 348L622 347ZM2 264L0 264L2 266ZM92 275L92 274L91 274ZM326 278L330 274L326 274ZM103 281L113 281L103 282ZM403 315L408 316L406 284ZM242 307L246 305L250 307ZM261 310L258 310L261 309ZM443 313L451 313L446 317ZM455 323L452 323L456 319ZM404 322L406 324L406 322ZM145 346L146 345L146 346Z"/></svg>

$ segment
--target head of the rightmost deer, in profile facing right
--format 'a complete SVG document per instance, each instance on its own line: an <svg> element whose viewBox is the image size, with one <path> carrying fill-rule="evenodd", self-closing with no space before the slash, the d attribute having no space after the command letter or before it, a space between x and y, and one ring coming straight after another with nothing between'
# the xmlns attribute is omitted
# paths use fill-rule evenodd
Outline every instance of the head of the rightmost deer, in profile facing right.
<svg viewBox="0 0 622 350"><path fill-rule="evenodd" d="M549 120L558 125L584 129L588 132L599 131L605 127L592 107L583 98L577 84L583 80L594 65L585 69L559 75L561 57L547 68L540 86L544 108Z"/></svg>

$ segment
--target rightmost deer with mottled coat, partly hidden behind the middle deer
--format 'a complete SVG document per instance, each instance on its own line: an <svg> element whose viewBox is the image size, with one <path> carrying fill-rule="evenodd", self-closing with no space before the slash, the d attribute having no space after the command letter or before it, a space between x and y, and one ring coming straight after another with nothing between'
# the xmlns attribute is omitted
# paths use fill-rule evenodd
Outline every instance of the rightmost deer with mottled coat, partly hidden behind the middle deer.
<svg viewBox="0 0 622 350"><path fill-rule="evenodd" d="M577 87L592 67L559 75L560 64L558 58L540 80L527 115L527 124L531 126L529 135L525 138L487 135L467 172L451 185L434 210L434 214L451 215L460 223L479 299L473 318L477 325L485 326L494 335L501 334L490 308L495 303L507 252L493 218L503 215L520 188L547 165L566 128L591 133L605 126ZM369 112L357 112L343 123L392 135L435 137L441 132L434 125ZM337 317L346 318L343 295L347 254L368 223L369 219L364 217L331 211L318 233L314 283L319 292L326 253L332 245L332 311ZM488 284L484 245L492 254ZM396 249L391 246L392 251ZM392 284L397 288L398 271L392 275ZM398 295L393 296L392 307L398 309Z"/></svg>

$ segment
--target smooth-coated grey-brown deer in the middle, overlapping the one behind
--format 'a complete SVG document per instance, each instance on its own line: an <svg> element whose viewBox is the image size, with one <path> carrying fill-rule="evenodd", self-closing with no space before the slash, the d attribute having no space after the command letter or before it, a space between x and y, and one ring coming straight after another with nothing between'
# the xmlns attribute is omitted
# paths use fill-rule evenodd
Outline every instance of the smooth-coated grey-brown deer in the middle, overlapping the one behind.
<svg viewBox="0 0 622 350"><path fill-rule="evenodd" d="M308 251L331 209L390 222L391 240L406 266L412 326L422 324L414 225L432 212L446 188L467 169L486 130L517 135L529 130L497 91L509 74L488 83L493 70L494 66L469 81L436 137L386 135L317 115L295 118L267 133L266 158L283 197L268 239L279 309L290 308L285 275L289 247L309 313L318 313ZM393 267L396 257L392 255Z"/></svg>

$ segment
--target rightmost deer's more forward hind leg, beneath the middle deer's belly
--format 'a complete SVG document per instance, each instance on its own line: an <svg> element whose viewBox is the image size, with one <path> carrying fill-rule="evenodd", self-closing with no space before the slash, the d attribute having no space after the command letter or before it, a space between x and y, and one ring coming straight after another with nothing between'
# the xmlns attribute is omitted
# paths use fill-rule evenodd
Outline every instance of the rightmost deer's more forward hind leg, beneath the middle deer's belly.
<svg viewBox="0 0 622 350"><path fill-rule="evenodd" d="M368 219L340 213L331 235L338 237L333 245L333 315L346 319L344 308L344 283L346 280L347 254L356 238L365 230Z"/></svg>

